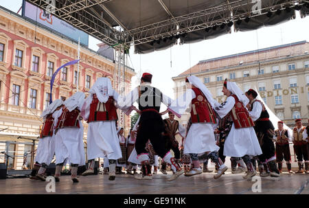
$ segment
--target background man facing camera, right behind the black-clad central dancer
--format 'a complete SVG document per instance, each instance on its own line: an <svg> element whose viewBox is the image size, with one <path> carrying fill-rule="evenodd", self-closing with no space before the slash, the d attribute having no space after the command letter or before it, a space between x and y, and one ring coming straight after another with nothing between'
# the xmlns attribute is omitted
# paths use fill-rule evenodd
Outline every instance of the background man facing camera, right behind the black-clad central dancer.
<svg viewBox="0 0 309 208"><path fill-rule="evenodd" d="M179 150L179 143L176 140L176 135L179 134L181 137L185 137L185 128L181 125L179 125L179 122L175 120L175 115L172 112L168 112L168 119L163 119L163 122L165 124L165 137L166 139L166 148L168 150L173 150L174 152L174 157L177 160L181 159L181 153ZM177 132L178 131L178 132ZM163 174L168 174L166 172L166 163L161 163L161 169L160 171Z"/></svg>

